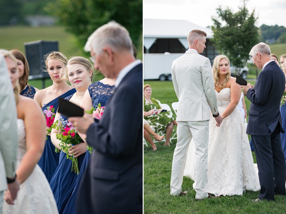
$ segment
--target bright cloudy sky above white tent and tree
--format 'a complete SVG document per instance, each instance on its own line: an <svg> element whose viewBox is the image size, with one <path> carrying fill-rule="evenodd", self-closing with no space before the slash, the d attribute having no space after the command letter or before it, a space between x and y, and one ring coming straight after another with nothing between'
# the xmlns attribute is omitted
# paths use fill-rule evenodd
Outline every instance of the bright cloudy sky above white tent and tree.
<svg viewBox="0 0 286 214"><path fill-rule="evenodd" d="M256 26L283 25L286 27L286 0L246 0L251 13L255 9L258 17ZM144 19L187 20L202 27L213 24L211 17L217 16L216 9L229 7L237 12L243 0L144 0Z"/></svg>

